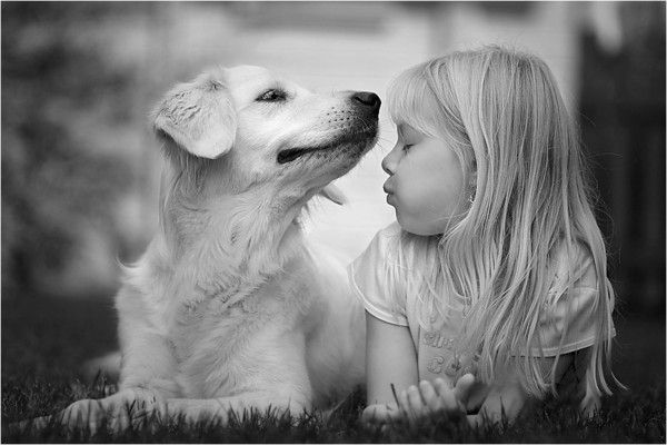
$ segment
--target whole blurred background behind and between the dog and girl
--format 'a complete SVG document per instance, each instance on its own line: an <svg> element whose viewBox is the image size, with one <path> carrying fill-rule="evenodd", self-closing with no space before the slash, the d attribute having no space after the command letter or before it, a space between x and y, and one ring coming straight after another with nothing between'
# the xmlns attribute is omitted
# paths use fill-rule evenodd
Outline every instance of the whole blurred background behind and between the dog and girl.
<svg viewBox="0 0 667 445"><path fill-rule="evenodd" d="M552 69L599 192L620 354L654 347L664 385L664 2L3 2L1 12L3 388L115 347L119 265L158 221L148 115L173 83L247 63L384 97L399 71L485 43ZM342 259L394 219L380 160L396 134L386 110L380 120L379 147L338 181L349 204L318 201L307 220Z"/></svg>

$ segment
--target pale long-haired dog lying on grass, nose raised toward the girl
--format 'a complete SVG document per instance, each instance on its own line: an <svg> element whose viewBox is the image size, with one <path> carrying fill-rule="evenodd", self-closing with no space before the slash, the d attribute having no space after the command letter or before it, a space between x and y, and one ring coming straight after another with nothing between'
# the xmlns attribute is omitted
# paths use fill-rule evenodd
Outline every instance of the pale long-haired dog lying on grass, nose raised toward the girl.
<svg viewBox="0 0 667 445"><path fill-rule="evenodd" d="M379 107L257 67L171 90L153 121L168 159L160 230L117 296L119 392L62 421L223 423L232 409L326 408L362 383L364 309L298 218L375 145Z"/></svg>

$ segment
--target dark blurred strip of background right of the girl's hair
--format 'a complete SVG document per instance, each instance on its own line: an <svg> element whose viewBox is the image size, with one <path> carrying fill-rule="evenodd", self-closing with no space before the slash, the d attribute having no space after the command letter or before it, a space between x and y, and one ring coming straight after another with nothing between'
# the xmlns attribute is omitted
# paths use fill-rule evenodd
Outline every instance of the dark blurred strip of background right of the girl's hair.
<svg viewBox="0 0 667 445"><path fill-rule="evenodd" d="M619 6L624 44L581 36L583 138L621 312L665 314L665 3Z"/></svg>

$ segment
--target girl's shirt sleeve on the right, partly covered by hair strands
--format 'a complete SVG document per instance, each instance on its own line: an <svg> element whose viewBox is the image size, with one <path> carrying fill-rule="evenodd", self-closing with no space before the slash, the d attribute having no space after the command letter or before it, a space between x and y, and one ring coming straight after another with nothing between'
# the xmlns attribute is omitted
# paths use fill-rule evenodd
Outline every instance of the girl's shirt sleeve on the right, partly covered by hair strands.
<svg viewBox="0 0 667 445"><path fill-rule="evenodd" d="M593 258L579 256L574 277L567 277L564 265L559 265L547 305L539 319L538 336L545 357L568 354L593 346L598 340L596 319L599 299ZM568 286L568 281L571 285ZM574 283L573 283L574 281ZM605 286L603 284L603 286ZM609 312L613 307L609 307ZM611 314L608 314L609 318ZM616 335L611 324L611 337ZM539 355L539 348L532 354Z"/></svg>

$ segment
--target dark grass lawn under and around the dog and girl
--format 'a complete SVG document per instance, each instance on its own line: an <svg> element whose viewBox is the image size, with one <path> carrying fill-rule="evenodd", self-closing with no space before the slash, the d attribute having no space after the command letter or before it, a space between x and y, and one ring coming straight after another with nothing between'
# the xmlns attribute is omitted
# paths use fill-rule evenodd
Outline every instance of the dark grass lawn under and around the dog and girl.
<svg viewBox="0 0 667 445"><path fill-rule="evenodd" d="M434 418L380 431L358 422L364 394L357 390L330 416L250 412L225 427L171 422L116 436L104 431L68 435L57 425L40 432L8 428L8 423L53 414L83 397L101 397L103 379L81 383L77 369L83 359L115 347L115 325L108 300L3 296L3 443L665 443L665 322L629 315L617 323L614 368L630 390L607 397L589 421L571 405L548 400L509 426L472 429L456 418Z"/></svg>

